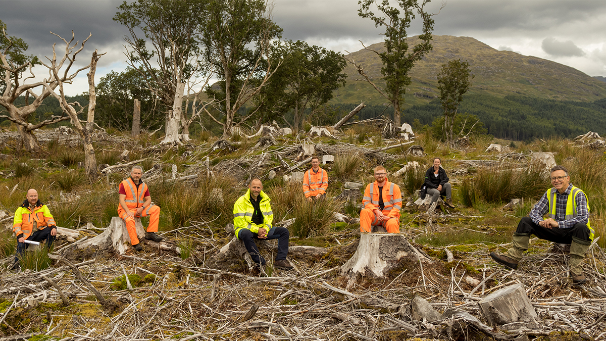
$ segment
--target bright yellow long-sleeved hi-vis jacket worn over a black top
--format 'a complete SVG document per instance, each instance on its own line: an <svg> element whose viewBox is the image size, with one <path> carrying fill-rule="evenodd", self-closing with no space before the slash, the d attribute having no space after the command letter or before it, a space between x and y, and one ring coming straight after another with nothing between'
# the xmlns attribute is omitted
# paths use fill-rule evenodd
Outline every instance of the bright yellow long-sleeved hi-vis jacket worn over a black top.
<svg viewBox="0 0 606 341"><path fill-rule="evenodd" d="M259 208L263 214L263 223L261 225L253 223L253 211L255 211L255 209L250 202L250 189L233 204L233 226L236 230L236 237L241 229L249 229L250 232L253 233L258 233L259 228L267 228L267 231L271 229L271 222L273 221L273 212L271 212L270 205L271 200L263 191L261 191L259 195L261 195Z"/></svg>

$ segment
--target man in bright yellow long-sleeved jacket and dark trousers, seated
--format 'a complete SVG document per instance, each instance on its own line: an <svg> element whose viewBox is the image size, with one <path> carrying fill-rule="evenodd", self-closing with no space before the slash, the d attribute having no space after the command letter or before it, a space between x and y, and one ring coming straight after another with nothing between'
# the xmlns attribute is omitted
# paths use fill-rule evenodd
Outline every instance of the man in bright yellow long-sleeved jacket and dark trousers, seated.
<svg viewBox="0 0 606 341"><path fill-rule="evenodd" d="M239 197L233 205L233 226L236 237L244 241L244 246L256 263L256 271L263 273L265 259L259 254L255 239L278 238L278 254L273 265L276 268L290 270L293 268L286 260L288 254L288 229L271 226L273 212L271 212L270 198L263 192L263 184L254 178L248 185L246 194Z"/></svg>

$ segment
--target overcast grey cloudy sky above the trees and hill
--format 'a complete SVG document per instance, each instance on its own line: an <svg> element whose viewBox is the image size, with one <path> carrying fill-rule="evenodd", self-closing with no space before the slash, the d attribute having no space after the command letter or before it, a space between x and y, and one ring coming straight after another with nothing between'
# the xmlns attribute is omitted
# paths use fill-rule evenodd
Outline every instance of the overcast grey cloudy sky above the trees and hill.
<svg viewBox="0 0 606 341"><path fill-rule="evenodd" d="M428 6L437 13L443 2ZM112 20L122 1L0 0L0 19L8 34L29 44L28 53L52 55L57 33L76 40L92 37L81 53L82 65L94 49L107 52L99 60L97 82L110 70L124 70L124 35ZM361 44L383 40L381 29L358 16L357 0L275 0L273 19L284 39L301 39L339 52L355 52ZM436 35L470 36L494 49L550 59L590 76L606 76L606 1L604 0L449 0L434 16ZM413 23L409 35L420 33ZM61 47L60 45L58 45ZM44 77L44 70L36 68ZM88 89L86 75L66 86L69 95Z"/></svg>

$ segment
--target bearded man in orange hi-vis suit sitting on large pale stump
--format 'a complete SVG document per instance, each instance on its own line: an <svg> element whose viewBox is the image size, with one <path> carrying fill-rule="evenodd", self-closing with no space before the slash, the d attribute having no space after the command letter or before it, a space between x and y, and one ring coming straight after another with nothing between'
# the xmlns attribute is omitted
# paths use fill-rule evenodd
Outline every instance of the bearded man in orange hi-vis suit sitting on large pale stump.
<svg viewBox="0 0 606 341"><path fill-rule="evenodd" d="M387 181L383 166L375 167L375 182L366 186L362 205L361 232L400 232L402 194L397 184Z"/></svg>

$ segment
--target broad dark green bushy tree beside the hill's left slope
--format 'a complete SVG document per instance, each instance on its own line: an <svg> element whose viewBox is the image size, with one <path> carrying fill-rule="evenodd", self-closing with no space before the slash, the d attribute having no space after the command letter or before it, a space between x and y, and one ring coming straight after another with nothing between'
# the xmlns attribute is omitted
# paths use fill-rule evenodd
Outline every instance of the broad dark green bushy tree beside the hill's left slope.
<svg viewBox="0 0 606 341"><path fill-rule="evenodd" d="M304 41L277 43L274 55L282 64L260 93L258 104L266 112L285 115L292 111L291 127L297 131L306 109L310 109L308 115L315 115L333 98L333 90L345 86L347 75L342 71L347 62L339 52Z"/></svg>

